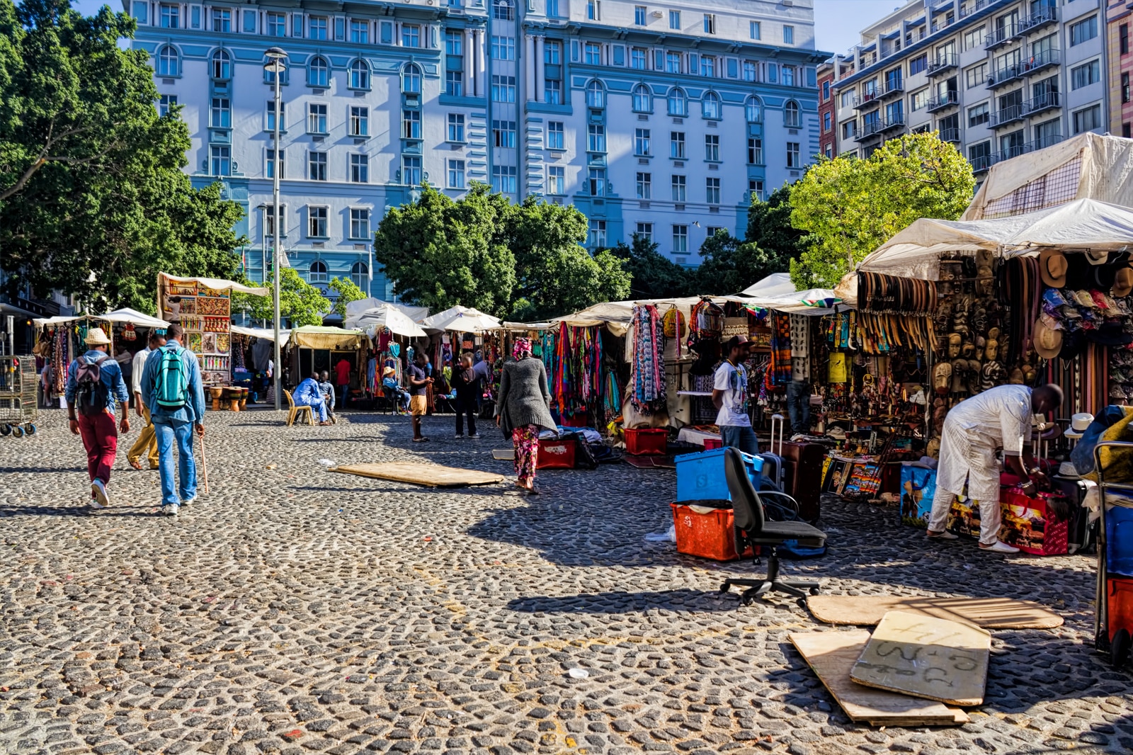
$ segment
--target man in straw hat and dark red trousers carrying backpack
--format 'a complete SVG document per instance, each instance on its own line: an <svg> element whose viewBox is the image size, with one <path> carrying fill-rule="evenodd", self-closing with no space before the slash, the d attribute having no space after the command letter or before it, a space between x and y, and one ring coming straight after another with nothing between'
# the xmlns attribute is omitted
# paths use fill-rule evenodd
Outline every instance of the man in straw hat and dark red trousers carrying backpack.
<svg viewBox="0 0 1133 755"><path fill-rule="evenodd" d="M119 427L130 431L129 393L122 380L122 368L110 358L107 349L110 339L101 328L86 334L90 350L70 363L67 368L67 414L70 431L83 438L86 449L86 472L91 477L91 506L96 509L110 506L107 485L110 468L118 455L118 427L114 426L114 404L122 412Z"/></svg>

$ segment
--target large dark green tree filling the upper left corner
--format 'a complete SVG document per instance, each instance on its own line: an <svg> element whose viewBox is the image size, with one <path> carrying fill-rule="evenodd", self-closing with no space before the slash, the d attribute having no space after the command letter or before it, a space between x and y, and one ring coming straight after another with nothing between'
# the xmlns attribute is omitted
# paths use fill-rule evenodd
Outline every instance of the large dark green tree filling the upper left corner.
<svg viewBox="0 0 1133 755"><path fill-rule="evenodd" d="M177 110L159 117L135 22L66 0L0 0L0 248L8 285L91 309L155 308L156 273L231 277L242 211L181 172Z"/></svg>

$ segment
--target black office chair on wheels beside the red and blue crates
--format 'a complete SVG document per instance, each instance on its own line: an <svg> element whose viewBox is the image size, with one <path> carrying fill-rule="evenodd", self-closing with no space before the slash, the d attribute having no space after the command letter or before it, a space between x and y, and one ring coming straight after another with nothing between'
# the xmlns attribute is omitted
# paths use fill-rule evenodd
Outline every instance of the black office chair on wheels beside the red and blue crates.
<svg viewBox="0 0 1133 755"><path fill-rule="evenodd" d="M729 592L732 585L748 587L740 594L740 602L744 605L766 593L786 593L798 597L799 604L806 608L807 591L810 591L811 595L817 595L818 583L780 579L778 555L775 549L789 540L799 541L800 545L820 548L826 543L826 533L806 521L769 520L761 497L776 494L756 491L738 449L729 448L724 453L724 476L727 480L727 490L732 494L732 509L735 512L735 552L743 553L749 545L752 549L761 545L768 548L769 553L766 579L726 579L719 586L719 592ZM778 495L782 494L777 494L776 498ZM784 495L784 498L790 497ZM782 507L775 506L775 508ZM753 561L758 562L758 557Z"/></svg>

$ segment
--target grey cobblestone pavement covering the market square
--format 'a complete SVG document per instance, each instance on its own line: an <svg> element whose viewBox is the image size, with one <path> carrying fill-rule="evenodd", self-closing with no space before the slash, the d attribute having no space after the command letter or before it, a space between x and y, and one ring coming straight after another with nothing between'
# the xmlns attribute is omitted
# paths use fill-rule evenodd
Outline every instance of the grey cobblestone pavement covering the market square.
<svg viewBox="0 0 1133 755"><path fill-rule="evenodd" d="M1128 753L1130 678L1091 650L1087 558L927 546L895 512L827 504L829 593L1029 597L1056 631L996 631L986 704L949 729L850 723L787 642L793 602L717 594L750 563L682 557L670 470L540 473L545 494L435 492L320 459L510 472L494 429L210 415L212 493L155 515L126 467L88 514L61 413L0 439L0 753ZM135 430L136 432L136 430ZM573 678L571 669L585 669Z"/></svg>

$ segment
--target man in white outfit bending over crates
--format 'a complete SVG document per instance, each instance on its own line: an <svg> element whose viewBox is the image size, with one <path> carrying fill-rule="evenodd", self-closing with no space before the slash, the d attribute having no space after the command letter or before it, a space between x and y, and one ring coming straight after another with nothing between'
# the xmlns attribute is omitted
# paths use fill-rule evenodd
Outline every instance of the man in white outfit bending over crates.
<svg viewBox="0 0 1133 755"><path fill-rule="evenodd" d="M1022 490L1033 495L1046 475L1031 456L1031 417L1062 406L1062 389L1054 384L1031 390L1025 385L999 385L957 404L944 419L936 495L928 521L929 540L956 540L945 531L956 495L980 504L980 548L995 553L1017 553L999 542L999 464L1003 449L1007 468L1025 481Z"/></svg>

